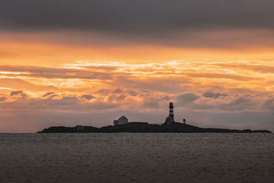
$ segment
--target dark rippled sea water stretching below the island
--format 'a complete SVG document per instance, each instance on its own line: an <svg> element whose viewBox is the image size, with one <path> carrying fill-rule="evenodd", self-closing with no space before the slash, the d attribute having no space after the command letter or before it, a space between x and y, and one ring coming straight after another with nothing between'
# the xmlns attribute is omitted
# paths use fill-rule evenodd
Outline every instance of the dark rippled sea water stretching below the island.
<svg viewBox="0 0 274 183"><path fill-rule="evenodd" d="M274 182L274 135L0 134L0 182Z"/></svg>

